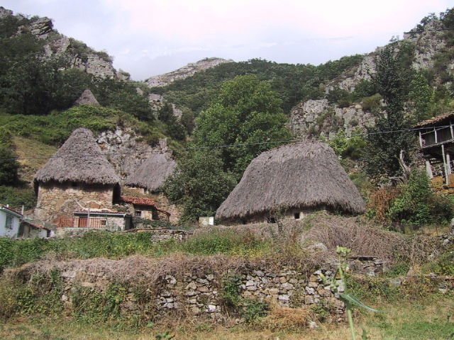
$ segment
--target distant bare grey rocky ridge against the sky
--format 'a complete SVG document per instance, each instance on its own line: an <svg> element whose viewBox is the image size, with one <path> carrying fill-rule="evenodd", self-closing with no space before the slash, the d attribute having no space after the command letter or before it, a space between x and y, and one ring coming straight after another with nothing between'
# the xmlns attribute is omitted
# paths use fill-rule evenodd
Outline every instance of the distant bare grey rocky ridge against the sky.
<svg viewBox="0 0 454 340"><path fill-rule="evenodd" d="M233 60L225 60L216 57L205 58L199 60L198 62L189 63L186 66L181 67L175 71L150 77L145 80L145 83L147 83L148 86L150 87L166 86L175 80L191 77L196 72L201 72L204 71L205 69L210 69L211 67L215 67L219 64L224 64L226 62L233 62Z"/></svg>

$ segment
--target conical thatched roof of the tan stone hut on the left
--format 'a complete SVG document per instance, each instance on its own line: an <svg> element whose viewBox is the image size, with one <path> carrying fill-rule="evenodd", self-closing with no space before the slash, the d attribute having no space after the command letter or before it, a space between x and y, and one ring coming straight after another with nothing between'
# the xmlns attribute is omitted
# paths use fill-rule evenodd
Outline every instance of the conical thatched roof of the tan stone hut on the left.
<svg viewBox="0 0 454 340"><path fill-rule="evenodd" d="M120 179L101 149L92 131L78 128L35 175L38 182L82 182L119 184Z"/></svg>

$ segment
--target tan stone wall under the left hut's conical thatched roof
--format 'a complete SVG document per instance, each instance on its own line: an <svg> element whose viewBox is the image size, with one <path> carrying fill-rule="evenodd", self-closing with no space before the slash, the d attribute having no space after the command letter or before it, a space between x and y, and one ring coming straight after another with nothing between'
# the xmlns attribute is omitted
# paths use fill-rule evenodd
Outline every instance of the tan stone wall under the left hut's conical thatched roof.
<svg viewBox="0 0 454 340"><path fill-rule="evenodd" d="M92 206L87 203L94 200L96 208L111 209L114 199L114 186L102 186L86 183L40 183L38 201L35 208L35 219L43 222L54 222L59 216L72 216L74 211L82 210L81 206ZM79 204L77 204L79 203ZM94 208L92 206L92 208Z"/></svg>

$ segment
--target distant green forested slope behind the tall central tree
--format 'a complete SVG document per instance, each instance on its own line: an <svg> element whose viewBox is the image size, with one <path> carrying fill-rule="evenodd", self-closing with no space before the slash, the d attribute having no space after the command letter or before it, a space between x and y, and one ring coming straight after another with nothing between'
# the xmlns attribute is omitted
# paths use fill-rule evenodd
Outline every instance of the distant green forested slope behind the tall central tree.
<svg viewBox="0 0 454 340"><path fill-rule="evenodd" d="M171 103L191 108L198 115L216 100L223 81L250 74L255 75L260 81L269 82L272 91L279 94L282 101L280 107L284 113L289 113L299 101L323 98L323 91L319 86L358 65L362 57L362 55L343 57L319 66L278 64L261 59L224 63L152 91L162 94Z"/></svg>

